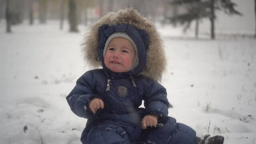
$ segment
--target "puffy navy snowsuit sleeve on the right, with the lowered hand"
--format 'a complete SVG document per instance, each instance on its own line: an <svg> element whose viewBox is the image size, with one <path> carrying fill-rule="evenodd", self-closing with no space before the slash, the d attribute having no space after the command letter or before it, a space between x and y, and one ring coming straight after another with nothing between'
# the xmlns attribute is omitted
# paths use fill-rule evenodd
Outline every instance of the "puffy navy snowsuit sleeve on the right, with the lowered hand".
<svg viewBox="0 0 256 144"><path fill-rule="evenodd" d="M167 100L166 89L159 83L153 80L147 80L147 86L144 88L143 96L145 115L157 115L158 123L166 123L168 116L169 102Z"/></svg>

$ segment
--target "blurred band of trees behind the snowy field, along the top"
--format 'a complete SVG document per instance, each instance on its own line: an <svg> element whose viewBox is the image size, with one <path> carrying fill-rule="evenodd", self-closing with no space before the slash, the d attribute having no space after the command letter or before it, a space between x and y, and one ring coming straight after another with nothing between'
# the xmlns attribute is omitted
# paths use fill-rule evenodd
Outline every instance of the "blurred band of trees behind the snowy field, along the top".
<svg viewBox="0 0 256 144"><path fill-rule="evenodd" d="M79 32L79 25L89 25L108 12L132 7L161 26L182 26L183 32L200 30L215 39L218 31L228 30L243 36L255 35L256 0L0 0L0 22L5 20L6 32L24 22L47 24L59 20L70 32ZM226 24L231 21L233 26ZM67 23L65 23L67 22ZM207 27L207 28L205 28Z"/></svg>

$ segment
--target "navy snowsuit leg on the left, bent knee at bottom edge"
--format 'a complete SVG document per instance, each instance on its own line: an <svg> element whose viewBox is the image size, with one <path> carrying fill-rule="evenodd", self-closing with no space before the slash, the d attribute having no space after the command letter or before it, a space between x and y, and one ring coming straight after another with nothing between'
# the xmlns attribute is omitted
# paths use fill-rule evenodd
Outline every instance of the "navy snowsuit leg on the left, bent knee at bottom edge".
<svg viewBox="0 0 256 144"><path fill-rule="evenodd" d="M118 124L103 121L93 126L83 144L130 144L127 132Z"/></svg>

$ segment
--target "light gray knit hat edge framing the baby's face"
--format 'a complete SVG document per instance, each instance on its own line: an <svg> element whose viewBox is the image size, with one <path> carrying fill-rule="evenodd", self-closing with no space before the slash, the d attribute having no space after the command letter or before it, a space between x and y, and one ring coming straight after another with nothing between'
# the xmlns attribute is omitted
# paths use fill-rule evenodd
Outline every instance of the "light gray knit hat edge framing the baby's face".
<svg viewBox="0 0 256 144"><path fill-rule="evenodd" d="M135 44L135 42L131 39L131 37L126 34L125 32L115 32L113 34L111 34L111 36L109 36L109 38L107 39L106 43L105 43L105 47L104 47L104 50L103 50L103 58L105 57L105 54L107 52L107 47L109 46L109 43L110 41L113 39L113 38L125 38L127 40L129 40L132 44L133 44L133 47L135 49L135 60L133 62L133 66L131 67L130 70L133 70L138 64L139 64L139 58L137 56L137 46ZM130 71L128 70L128 71Z"/></svg>

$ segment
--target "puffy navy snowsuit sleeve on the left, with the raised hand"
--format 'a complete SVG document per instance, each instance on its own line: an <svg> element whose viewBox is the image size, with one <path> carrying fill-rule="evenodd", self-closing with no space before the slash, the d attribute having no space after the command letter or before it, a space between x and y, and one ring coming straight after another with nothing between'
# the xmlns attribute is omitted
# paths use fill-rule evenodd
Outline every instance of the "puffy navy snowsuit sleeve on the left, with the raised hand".
<svg viewBox="0 0 256 144"><path fill-rule="evenodd" d="M94 94L95 81L93 72L86 72L77 80L75 88L66 97L71 110L79 117L92 118L94 114L89 108L91 100L102 99L101 96Z"/></svg>

